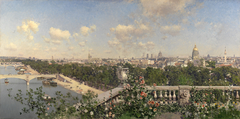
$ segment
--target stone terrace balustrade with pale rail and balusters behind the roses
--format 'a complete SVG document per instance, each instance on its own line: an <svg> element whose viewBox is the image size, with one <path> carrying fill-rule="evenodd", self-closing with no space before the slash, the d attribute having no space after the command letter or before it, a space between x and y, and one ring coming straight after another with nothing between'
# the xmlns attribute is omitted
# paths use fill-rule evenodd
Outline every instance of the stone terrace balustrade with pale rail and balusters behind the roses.
<svg viewBox="0 0 240 119"><path fill-rule="evenodd" d="M205 90L205 89L219 89L223 91L223 95L227 95L229 91L229 86L194 86L195 90ZM190 91L193 88L192 86L187 85L180 85L180 86L146 86L147 90L149 90L151 95L154 97L154 101L159 102L160 104L172 104L172 103L179 103L180 105L189 104L190 99ZM110 97L109 92L105 95L105 99L103 99L103 95L101 96L101 100L99 101L99 105L108 104L111 100L114 100L114 103L119 103L122 100L119 100L120 94L119 91L122 91L123 88L117 88L118 90L112 91L112 99ZM232 98L235 98L239 101L239 91L240 86L232 86L230 94ZM101 94L100 94L101 95ZM229 97L230 95L228 95Z"/></svg>

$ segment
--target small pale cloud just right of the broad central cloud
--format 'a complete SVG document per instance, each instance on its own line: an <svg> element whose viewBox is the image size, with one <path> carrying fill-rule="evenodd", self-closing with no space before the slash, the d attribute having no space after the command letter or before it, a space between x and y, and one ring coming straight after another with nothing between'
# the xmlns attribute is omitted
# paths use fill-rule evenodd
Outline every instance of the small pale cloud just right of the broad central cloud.
<svg viewBox="0 0 240 119"><path fill-rule="evenodd" d="M169 34L172 36L176 36L180 33L181 31L181 26L180 25L173 25L173 26L162 26L160 28L160 31L164 34Z"/></svg>

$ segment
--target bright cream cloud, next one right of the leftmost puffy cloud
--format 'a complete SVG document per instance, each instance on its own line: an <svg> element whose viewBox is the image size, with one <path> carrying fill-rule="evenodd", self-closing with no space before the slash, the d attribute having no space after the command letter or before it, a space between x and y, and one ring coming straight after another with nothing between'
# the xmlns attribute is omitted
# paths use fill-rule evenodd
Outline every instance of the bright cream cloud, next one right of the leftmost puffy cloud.
<svg viewBox="0 0 240 119"><path fill-rule="evenodd" d="M69 40L69 37L71 36L71 34L69 33L69 31L65 30L62 31L61 29L57 29L57 28L53 28L51 27L49 29L49 34L52 40L55 41L61 41L61 40Z"/></svg>

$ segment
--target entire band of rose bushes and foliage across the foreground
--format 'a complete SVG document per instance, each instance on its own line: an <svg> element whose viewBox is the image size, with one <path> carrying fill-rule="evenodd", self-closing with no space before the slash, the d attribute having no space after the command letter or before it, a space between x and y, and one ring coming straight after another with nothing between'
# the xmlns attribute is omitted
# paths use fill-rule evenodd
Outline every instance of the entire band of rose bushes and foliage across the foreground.
<svg viewBox="0 0 240 119"><path fill-rule="evenodd" d="M236 98L231 95L231 87L229 87L228 93L222 95L222 90L196 90L192 88L191 97L189 98L189 105L180 106L178 103L163 105L157 101L154 101L152 94L155 91L148 90L145 86L145 80L143 77L129 77L124 85L124 90L119 92L123 101L116 103L113 100L112 93L108 103L104 106L98 106L96 100L97 95L89 91L83 95L77 105L72 106L65 101L65 98L73 98L70 95L62 96L60 92L56 92L57 98L49 102L43 102L41 96L44 95L42 88L33 91L32 89L27 92L27 102L24 102L23 95L17 94L15 100L22 104L28 105L29 109L23 109L23 112L27 113L37 109L39 118L56 118L56 117L69 117L77 116L80 118L116 118L121 117L123 114L129 113L131 116L137 118L153 118L156 114L161 115L164 112L180 112L184 118L238 118L240 117L240 111L236 108L238 104ZM153 90L155 90L156 84L153 84ZM37 95L34 100L33 95ZM9 95L10 96L10 95ZM10 96L11 97L11 96ZM77 98L76 98L77 99ZM58 101L57 101L58 100ZM51 109L52 105L55 107ZM50 112L52 110L52 112ZM227 116L226 116L227 115Z"/></svg>

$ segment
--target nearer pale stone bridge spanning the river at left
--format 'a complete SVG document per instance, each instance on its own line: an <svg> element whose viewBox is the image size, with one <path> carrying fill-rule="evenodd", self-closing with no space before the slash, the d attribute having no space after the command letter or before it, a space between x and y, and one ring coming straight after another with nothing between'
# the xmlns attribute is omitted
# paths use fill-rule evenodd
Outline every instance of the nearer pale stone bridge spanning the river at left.
<svg viewBox="0 0 240 119"><path fill-rule="evenodd" d="M0 75L1 79L6 78L19 78L26 81L26 84L29 85L29 81L37 77L46 77L46 78L58 78L58 75L55 74L41 74L41 75Z"/></svg>

